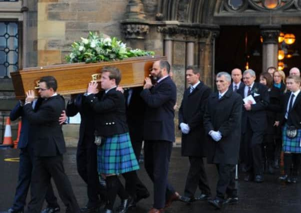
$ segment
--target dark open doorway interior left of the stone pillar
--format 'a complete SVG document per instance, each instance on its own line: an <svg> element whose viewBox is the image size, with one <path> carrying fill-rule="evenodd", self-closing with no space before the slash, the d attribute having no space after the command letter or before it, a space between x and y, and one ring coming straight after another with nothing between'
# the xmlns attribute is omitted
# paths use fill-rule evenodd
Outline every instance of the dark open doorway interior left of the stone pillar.
<svg viewBox="0 0 301 213"><path fill-rule="evenodd" d="M262 47L258 26L221 26L215 41L215 73L245 70L246 62L256 74L261 73Z"/></svg>

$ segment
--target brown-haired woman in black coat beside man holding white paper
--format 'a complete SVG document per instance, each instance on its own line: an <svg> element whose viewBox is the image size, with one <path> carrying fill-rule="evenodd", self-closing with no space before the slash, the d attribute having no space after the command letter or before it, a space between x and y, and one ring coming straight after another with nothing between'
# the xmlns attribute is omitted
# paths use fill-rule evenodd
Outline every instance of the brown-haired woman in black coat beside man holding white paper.
<svg viewBox="0 0 301 213"><path fill-rule="evenodd" d="M269 104L266 108L267 128L263 140L263 159L265 169L267 169L268 173L273 174L275 135L279 126L281 113L281 91L279 88L273 86L272 77L267 72L261 73L260 83L267 86L269 95Z"/></svg>

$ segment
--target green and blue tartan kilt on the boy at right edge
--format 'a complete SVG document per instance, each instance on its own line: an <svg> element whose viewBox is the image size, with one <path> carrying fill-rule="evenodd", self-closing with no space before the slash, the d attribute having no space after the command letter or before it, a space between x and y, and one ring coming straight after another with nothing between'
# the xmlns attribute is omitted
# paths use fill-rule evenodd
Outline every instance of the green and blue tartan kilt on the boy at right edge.
<svg viewBox="0 0 301 213"><path fill-rule="evenodd" d="M297 130L297 136L294 138L288 138L286 136L287 124L282 128L282 150L283 152L301 153L300 140L301 129Z"/></svg>

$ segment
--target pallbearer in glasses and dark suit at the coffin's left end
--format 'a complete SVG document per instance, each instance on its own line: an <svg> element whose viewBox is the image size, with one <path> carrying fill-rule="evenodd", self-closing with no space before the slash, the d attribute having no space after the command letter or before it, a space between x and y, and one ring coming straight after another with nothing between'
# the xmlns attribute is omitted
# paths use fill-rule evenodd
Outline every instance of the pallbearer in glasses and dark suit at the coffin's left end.
<svg viewBox="0 0 301 213"><path fill-rule="evenodd" d="M79 213L71 184L64 173L62 155L66 151L61 126L57 120L65 108L64 100L56 93L54 77L45 76L39 81L39 94L44 98L36 111L31 102L34 92L29 90L24 105L24 115L28 118L31 130L29 140L33 147L33 169L31 176L32 198L26 213L39 213L53 178L59 197L66 206L66 213Z"/></svg>

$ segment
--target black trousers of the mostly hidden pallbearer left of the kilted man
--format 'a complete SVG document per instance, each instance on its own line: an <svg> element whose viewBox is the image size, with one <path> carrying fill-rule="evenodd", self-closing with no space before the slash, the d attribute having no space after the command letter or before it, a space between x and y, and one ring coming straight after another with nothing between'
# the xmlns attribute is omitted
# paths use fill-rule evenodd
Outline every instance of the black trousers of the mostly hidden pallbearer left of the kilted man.
<svg viewBox="0 0 301 213"><path fill-rule="evenodd" d="M82 143L77 145L76 165L79 176L87 185L87 207L97 207L98 194L104 198L106 192L98 180L97 147L94 144L94 136L85 136Z"/></svg>

